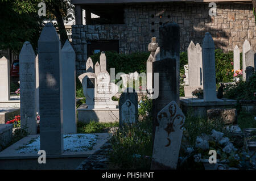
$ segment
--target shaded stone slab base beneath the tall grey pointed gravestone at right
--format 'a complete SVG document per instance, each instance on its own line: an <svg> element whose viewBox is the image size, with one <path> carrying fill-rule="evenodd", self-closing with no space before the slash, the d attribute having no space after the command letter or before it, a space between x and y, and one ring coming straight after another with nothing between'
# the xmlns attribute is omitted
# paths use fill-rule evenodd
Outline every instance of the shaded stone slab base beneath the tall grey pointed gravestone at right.
<svg viewBox="0 0 256 181"><path fill-rule="evenodd" d="M183 113L192 113L193 116L207 117L207 110L216 108L236 108L236 100L217 99L216 101L204 101L198 98L180 97L180 107Z"/></svg>

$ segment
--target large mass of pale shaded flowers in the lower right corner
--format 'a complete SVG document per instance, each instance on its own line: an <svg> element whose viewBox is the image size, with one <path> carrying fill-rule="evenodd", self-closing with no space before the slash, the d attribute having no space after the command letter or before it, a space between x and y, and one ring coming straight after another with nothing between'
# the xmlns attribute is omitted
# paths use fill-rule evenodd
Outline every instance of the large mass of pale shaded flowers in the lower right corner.
<svg viewBox="0 0 256 181"><path fill-rule="evenodd" d="M202 165L208 165L209 157L213 155L209 154L209 150L214 150L217 153L217 164L211 165L214 169L253 169L255 163L251 162L250 156L235 148L233 143L228 137L224 137L224 133L214 129L210 135L203 133L196 137L194 145L181 145L179 166L202 169Z"/></svg>

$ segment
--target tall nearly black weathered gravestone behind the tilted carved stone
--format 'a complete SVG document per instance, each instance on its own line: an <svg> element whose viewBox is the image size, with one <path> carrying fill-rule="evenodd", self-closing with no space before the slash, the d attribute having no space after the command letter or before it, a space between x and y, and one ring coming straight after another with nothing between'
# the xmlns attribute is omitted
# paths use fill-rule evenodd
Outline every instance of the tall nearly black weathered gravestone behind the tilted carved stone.
<svg viewBox="0 0 256 181"><path fill-rule="evenodd" d="M159 125L156 120L158 112L172 100L179 104L179 32L179 26L176 23L164 24L160 28L160 61L153 62L153 80L155 73L159 74L159 96L152 100L153 134L155 127ZM153 87L156 89L155 85Z"/></svg>

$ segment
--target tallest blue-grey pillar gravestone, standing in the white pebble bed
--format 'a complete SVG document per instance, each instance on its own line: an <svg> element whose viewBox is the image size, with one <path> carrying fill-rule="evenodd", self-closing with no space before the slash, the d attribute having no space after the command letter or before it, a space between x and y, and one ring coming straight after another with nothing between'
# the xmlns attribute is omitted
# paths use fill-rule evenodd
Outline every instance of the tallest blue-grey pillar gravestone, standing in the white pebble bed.
<svg viewBox="0 0 256 181"><path fill-rule="evenodd" d="M40 149L46 154L63 153L61 44L51 23L38 40Z"/></svg>

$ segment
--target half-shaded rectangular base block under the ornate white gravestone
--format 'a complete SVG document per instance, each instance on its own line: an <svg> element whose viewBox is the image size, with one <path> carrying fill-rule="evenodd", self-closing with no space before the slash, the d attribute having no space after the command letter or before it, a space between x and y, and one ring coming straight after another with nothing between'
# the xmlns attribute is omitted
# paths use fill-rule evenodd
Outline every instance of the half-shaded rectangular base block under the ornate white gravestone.
<svg viewBox="0 0 256 181"><path fill-rule="evenodd" d="M82 104L77 108L78 121L89 123L96 121L100 123L110 123L119 121L118 108L88 108L86 104Z"/></svg>

